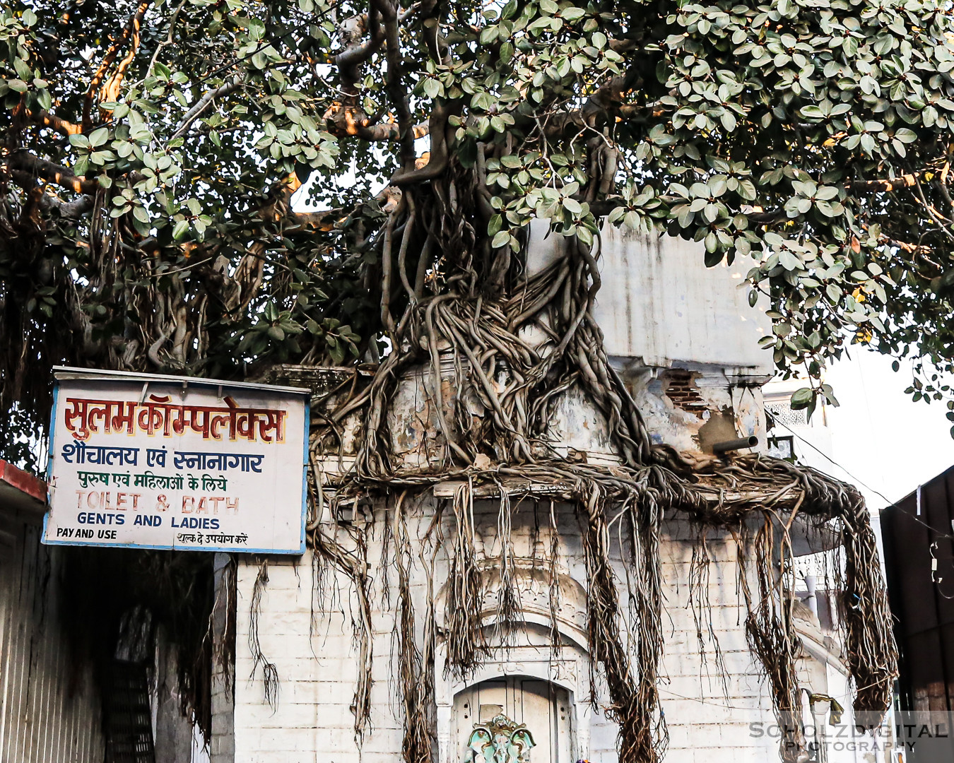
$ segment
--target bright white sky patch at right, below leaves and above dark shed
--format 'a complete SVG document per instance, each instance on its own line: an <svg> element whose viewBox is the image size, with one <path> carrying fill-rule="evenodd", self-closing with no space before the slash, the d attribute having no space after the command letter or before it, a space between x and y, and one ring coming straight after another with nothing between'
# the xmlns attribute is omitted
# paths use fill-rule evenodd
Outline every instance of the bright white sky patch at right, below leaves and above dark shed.
<svg viewBox="0 0 954 763"><path fill-rule="evenodd" d="M912 402L911 366L856 345L826 373L841 403L826 409L832 458L864 490L873 508L896 502L954 465L947 407ZM884 498L878 495L881 493ZM884 499L887 500L884 500Z"/></svg>

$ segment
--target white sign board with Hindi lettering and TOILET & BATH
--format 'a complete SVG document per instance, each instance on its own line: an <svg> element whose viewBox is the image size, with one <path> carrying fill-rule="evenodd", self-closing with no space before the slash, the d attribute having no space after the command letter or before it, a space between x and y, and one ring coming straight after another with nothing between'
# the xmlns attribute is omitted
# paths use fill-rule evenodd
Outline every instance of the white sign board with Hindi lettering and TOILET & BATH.
<svg viewBox="0 0 954 763"><path fill-rule="evenodd" d="M55 369L43 542L304 551L309 391Z"/></svg>

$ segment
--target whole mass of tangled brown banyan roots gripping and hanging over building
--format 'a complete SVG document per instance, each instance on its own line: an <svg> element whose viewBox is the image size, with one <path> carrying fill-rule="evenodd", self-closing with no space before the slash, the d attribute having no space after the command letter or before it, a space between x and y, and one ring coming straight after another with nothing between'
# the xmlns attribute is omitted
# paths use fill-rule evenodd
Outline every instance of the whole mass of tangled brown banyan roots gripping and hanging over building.
<svg viewBox="0 0 954 763"><path fill-rule="evenodd" d="M388 496L396 489L410 496L423 494L428 486L448 478L462 481L450 502L453 528L448 537L441 537L445 508L440 503L426 533L428 542L445 544L447 555L446 633L442 634L446 670L455 678L465 678L491 651L482 621L488 580L478 568L474 542L475 490L500 498L500 557L492 574L499 575L496 622L498 640L503 643L508 624L519 618L510 496L520 494L514 485L543 485L550 488L548 500L578 507L584 527L591 665L598 665L606 680L607 714L620 727L622 763L652 763L667 742L656 689L663 644L659 528L666 512L685 512L702 537L707 528L735 534L740 565L747 563L743 546L754 544L751 564L757 585L753 589L747 580L742 581L748 605L746 633L769 677L779 719L798 711L789 532L799 514L840 532L845 554L845 643L856 708L883 711L897 673L896 653L874 534L858 492L783 461L752 456L689 464L672 449L653 446L593 320L600 285L598 245L591 248L567 239L550 265L530 273L526 253L511 256L473 248L469 226L449 230L437 224L443 219L440 205L450 198L456 199L453 203L466 203L464 196L438 194L435 200L426 197L423 187L412 186L406 186L404 194L407 199L388 217L387 235L375 239L380 240L388 278L395 284L384 290L381 301L392 351L369 384L361 389L352 384L350 395L321 412L320 426L322 438L337 441L342 464L342 424L346 417L362 412L354 466L329 481L336 500L360 494ZM394 241L399 235L395 259ZM408 237L415 235L425 237L418 250L408 245ZM415 251L421 255L417 276L411 278L407 259ZM432 251L441 252L440 258L425 261ZM403 293L406 299L396 298ZM401 304L403 314L395 320ZM428 447L433 447L425 453L423 464L410 466L392 451L388 421L399 381L415 366L423 374L423 423L433 436L427 440ZM555 449L550 432L555 406L572 391L582 394L602 415L618 464L574 463ZM525 494L531 492L528 489ZM405 497L399 502L393 530L401 590L401 632L396 643L402 652L398 663L404 692L404 757L408 763L418 763L430 754L426 751L432 738L430 673L436 636L433 595L421 621L423 641L414 630L418 618L408 588L413 566L400 508L404 503ZM612 522L608 506L612 506ZM761 529L754 536L747 524L752 518L761 519ZM451 520L449 512L447 519ZM615 558L611 525L617 521L629 617L620 610L611 564ZM778 535L775 526L780 527ZM552 509L550 532L550 632L555 648L559 532ZM355 694L357 730L366 723L370 708L366 553L359 538L352 541L355 551L345 550L336 540L341 533L336 528L332 537L309 526L308 537L318 552L351 577L358 592L357 633L362 646ZM781 549L778 575L777 541ZM704 572L705 548L699 553L702 567L695 567L696 573ZM432 576L433 557L428 567L422 556L422 568L429 568ZM695 583L701 585L704 580L696 578ZM422 679L420 673L430 677ZM800 733L785 741L789 752L783 750L783 754L797 754Z"/></svg>

